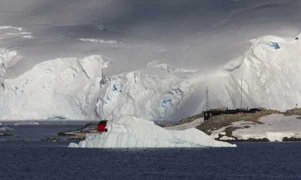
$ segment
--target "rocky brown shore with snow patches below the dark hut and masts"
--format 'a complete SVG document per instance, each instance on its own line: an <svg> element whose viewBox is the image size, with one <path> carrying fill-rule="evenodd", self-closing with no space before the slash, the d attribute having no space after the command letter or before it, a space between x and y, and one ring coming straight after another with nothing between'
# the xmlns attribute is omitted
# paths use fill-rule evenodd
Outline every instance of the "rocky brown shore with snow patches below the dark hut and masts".
<svg viewBox="0 0 301 180"><path fill-rule="evenodd" d="M300 115L300 116L299 116ZM165 127L176 128L191 123L201 114L180 120ZM221 114L210 117L196 128L220 141L301 141L301 108L280 112L261 108L260 112ZM234 133L234 134L233 134Z"/></svg>

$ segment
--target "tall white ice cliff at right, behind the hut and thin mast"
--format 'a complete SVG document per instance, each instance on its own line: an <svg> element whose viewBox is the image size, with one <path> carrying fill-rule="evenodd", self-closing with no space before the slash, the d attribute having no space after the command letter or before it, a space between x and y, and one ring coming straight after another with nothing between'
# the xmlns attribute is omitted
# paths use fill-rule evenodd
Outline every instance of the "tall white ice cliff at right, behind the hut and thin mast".
<svg viewBox="0 0 301 180"><path fill-rule="evenodd" d="M301 99L301 41L265 35L250 42L243 59L224 66L224 105L240 107L242 77L244 106L283 111L295 107Z"/></svg>

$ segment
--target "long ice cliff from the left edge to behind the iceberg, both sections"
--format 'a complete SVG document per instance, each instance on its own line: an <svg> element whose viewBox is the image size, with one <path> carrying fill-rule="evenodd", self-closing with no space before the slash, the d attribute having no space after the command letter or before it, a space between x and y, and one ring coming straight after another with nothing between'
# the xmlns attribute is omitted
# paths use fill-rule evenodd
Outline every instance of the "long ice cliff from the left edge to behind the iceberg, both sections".
<svg viewBox="0 0 301 180"><path fill-rule="evenodd" d="M1 119L111 119L126 113L158 120L181 108L195 90L189 79L157 67L106 76L109 62L102 55L48 60L4 78L20 57L10 49L0 57Z"/></svg>

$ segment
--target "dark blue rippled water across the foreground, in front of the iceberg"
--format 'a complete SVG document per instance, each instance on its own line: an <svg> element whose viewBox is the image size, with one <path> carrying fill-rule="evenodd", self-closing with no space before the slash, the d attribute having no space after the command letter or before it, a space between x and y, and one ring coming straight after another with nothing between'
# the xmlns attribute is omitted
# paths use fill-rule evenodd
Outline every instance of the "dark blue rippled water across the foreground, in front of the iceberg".
<svg viewBox="0 0 301 180"><path fill-rule="evenodd" d="M0 179L301 179L300 142L232 148L68 148L0 141Z"/></svg>

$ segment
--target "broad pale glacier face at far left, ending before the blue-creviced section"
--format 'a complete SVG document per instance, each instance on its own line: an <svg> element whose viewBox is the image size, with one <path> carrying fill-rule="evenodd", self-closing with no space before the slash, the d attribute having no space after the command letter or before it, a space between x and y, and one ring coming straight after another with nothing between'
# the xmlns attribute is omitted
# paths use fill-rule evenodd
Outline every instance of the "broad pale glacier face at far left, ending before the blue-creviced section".
<svg viewBox="0 0 301 180"><path fill-rule="evenodd" d="M14 79L3 79L2 119L83 119L99 92L103 57L58 58L37 64Z"/></svg>

